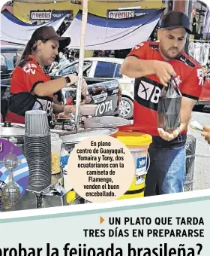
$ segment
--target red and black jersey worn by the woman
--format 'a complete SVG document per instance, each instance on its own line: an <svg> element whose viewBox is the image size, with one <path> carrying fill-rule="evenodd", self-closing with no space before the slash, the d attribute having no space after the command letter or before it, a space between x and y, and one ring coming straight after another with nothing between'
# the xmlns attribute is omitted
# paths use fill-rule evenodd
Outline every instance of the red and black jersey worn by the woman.
<svg viewBox="0 0 210 256"><path fill-rule="evenodd" d="M53 95L34 95L37 84L49 81L49 75L43 72L34 56L29 55L17 66L12 75L10 84L10 105L8 116L11 113L17 117L25 117L26 111L40 109L46 111L49 120L52 117ZM22 120L22 119L21 119Z"/></svg>

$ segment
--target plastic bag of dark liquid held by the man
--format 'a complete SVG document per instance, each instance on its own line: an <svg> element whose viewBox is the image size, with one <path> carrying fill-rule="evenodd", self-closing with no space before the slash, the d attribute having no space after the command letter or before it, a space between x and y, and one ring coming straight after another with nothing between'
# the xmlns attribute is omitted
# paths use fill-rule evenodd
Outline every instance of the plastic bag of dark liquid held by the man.
<svg viewBox="0 0 210 256"><path fill-rule="evenodd" d="M157 127L172 132L180 126L181 92L174 78L163 87L157 105Z"/></svg>

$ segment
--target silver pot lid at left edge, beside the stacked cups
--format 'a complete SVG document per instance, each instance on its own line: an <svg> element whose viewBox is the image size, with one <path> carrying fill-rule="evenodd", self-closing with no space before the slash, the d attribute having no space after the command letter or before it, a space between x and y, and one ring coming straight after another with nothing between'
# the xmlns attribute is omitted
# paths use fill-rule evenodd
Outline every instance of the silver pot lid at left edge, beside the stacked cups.
<svg viewBox="0 0 210 256"><path fill-rule="evenodd" d="M1 123L0 126L1 137L17 137L24 136L25 134L25 125L20 123Z"/></svg>

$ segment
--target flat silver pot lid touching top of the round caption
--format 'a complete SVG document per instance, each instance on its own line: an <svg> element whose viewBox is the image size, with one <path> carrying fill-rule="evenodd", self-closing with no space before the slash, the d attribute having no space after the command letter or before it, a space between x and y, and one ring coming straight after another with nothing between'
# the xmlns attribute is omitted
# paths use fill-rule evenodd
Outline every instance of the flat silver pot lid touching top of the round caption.
<svg viewBox="0 0 210 256"><path fill-rule="evenodd" d="M83 139L87 139L90 136L98 136L98 135L113 135L118 132L117 128L92 128L78 131L78 133L74 133L71 135L61 136L63 143L71 144L82 142Z"/></svg>

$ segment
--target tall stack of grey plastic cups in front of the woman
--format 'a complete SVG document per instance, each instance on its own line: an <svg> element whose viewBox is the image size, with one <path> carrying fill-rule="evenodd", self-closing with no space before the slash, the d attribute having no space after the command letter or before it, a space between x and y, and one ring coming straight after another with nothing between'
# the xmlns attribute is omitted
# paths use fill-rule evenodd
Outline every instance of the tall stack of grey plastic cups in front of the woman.
<svg viewBox="0 0 210 256"><path fill-rule="evenodd" d="M26 111L25 157L29 168L28 188L43 190L51 184L51 139L46 111Z"/></svg>

